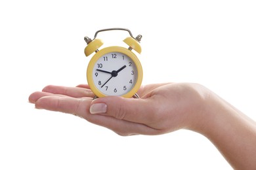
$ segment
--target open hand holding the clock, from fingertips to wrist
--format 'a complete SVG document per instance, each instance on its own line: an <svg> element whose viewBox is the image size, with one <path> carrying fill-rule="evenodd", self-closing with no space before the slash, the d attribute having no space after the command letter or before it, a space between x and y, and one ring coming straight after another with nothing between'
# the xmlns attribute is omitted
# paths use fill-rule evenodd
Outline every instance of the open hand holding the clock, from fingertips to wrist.
<svg viewBox="0 0 256 170"><path fill-rule="evenodd" d="M205 109L206 88L199 84L166 83L142 86L140 99L118 96L93 100L88 85L75 88L46 86L29 97L37 109L67 112L119 135L158 135L198 125Z"/></svg>

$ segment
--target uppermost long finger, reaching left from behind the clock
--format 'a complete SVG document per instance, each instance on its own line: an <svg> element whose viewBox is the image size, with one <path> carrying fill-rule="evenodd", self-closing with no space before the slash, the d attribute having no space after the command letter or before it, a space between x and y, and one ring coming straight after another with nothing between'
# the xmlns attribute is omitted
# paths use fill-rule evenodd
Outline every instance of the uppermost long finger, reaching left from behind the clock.
<svg viewBox="0 0 256 170"><path fill-rule="evenodd" d="M43 92L68 95L70 97L94 97L95 95L90 89L76 88L76 87L64 87L49 85L43 88Z"/></svg>

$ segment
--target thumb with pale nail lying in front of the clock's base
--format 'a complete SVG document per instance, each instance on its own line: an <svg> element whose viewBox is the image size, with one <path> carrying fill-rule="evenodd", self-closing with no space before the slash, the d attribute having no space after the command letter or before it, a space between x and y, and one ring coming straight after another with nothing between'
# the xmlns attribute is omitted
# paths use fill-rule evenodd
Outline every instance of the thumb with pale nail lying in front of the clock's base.
<svg viewBox="0 0 256 170"><path fill-rule="evenodd" d="M150 99L133 99L108 96L91 103L91 114L106 114L114 118L146 124L154 117L155 109Z"/></svg>

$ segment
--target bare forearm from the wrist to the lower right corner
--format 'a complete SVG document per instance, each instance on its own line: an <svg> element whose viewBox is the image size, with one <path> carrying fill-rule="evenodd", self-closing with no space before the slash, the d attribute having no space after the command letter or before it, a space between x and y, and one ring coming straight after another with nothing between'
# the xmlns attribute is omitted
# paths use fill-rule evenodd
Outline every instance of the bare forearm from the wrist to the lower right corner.
<svg viewBox="0 0 256 170"><path fill-rule="evenodd" d="M213 95L207 101L200 129L234 169L256 169L256 126L242 112Z"/></svg>

